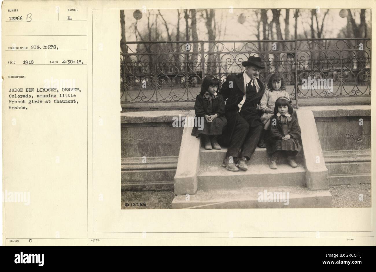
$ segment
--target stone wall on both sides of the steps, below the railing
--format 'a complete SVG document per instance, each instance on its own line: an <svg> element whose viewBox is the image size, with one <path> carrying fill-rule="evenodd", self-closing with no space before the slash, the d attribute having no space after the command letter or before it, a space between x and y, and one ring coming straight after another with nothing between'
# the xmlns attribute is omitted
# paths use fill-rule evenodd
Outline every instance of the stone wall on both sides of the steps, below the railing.
<svg viewBox="0 0 376 272"><path fill-rule="evenodd" d="M370 183L371 107L306 106L299 109L314 113L329 184ZM172 127L172 117L179 114L193 116L194 112L121 113L123 189L173 190L183 128ZM359 125L361 118L363 125Z"/></svg>

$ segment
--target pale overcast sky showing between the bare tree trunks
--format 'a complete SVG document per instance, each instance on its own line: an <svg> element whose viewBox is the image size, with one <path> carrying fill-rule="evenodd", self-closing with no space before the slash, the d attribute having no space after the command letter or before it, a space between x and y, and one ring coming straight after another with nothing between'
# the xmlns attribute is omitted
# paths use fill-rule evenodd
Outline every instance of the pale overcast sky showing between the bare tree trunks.
<svg viewBox="0 0 376 272"><path fill-rule="evenodd" d="M135 23L136 19L133 18L133 12L135 10L125 10L125 29L126 29L126 40L127 41L136 41L135 36ZM141 10L142 11L142 10ZM165 21L167 22L169 31L173 40L176 37L176 26L177 26L177 10L176 9L161 9L161 14ZM185 40L185 19L183 10L180 10L180 40ZM253 9L233 9L231 13L229 9L215 9L215 21L217 24L217 37L216 40L256 40L255 34L257 33L256 26L257 20L255 17L255 10ZM294 11L295 9L290 9L290 39L294 39L294 28L295 28L295 18L294 18ZM353 15L355 14L355 21L359 24L360 17L359 11L360 9L352 9ZM155 15L158 14L158 10L150 9L146 12L150 12L150 24L155 23ZM318 21L319 26L321 26L322 18L326 9L320 9L318 13ZM343 27L347 26L347 18L341 18L339 15L340 9L330 9L329 13L327 14L324 22L323 28L323 38L337 38L338 33ZM140 33L145 35L147 33L147 14L143 13L141 19L137 21L137 28ZM243 14L246 17L246 21L243 24L238 22L239 16ZM268 10L268 22L271 21L273 17L271 10ZM285 9L281 9L280 12L280 26L284 36L285 30ZM205 26L205 18L202 17L202 14L199 10L197 10L197 34L199 36L199 40L208 40L207 29ZM366 12L366 22L368 23L368 27L370 27L370 11L367 10ZM165 30L164 21L159 16L158 18L158 29L160 34L162 35L162 39L167 40L167 32ZM304 35L304 30L308 33L308 38L311 35L311 10L310 9L300 9L300 17L298 18L297 23L297 33L298 35ZM191 25L191 21L189 21L189 25ZM316 22L314 19L314 26L316 28ZM154 27L154 26L153 26ZM220 36L218 37L218 31L221 31ZM226 31L226 33L224 33ZM260 32L262 33L262 25L260 27ZM276 34L274 34L276 39ZM301 37L302 38L302 37Z"/></svg>

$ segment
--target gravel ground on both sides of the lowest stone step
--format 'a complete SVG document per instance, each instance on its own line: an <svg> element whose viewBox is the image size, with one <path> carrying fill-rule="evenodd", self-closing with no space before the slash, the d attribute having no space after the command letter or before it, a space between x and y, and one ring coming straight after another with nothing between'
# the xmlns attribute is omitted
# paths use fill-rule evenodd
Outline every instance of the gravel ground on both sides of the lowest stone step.
<svg viewBox="0 0 376 272"><path fill-rule="evenodd" d="M371 207L370 183L331 185L329 190L333 196L333 208ZM363 195L363 200L359 200L360 194ZM121 209L171 209L173 199L173 191L122 191ZM140 203L143 206L140 206ZM146 203L146 206L144 206L144 203Z"/></svg>

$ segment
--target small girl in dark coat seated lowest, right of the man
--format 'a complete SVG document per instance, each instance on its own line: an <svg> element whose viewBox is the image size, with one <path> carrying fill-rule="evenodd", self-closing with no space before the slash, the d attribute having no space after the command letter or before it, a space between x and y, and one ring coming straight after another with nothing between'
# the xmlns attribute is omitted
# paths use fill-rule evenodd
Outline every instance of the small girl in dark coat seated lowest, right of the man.
<svg viewBox="0 0 376 272"><path fill-rule="evenodd" d="M271 154L271 169L277 169L277 157L279 153L288 157L288 164L297 167L294 160L301 150L299 143L300 127L293 113L293 107L287 97L280 97L274 106L274 115L270 118L270 138L268 139L266 150Z"/></svg>

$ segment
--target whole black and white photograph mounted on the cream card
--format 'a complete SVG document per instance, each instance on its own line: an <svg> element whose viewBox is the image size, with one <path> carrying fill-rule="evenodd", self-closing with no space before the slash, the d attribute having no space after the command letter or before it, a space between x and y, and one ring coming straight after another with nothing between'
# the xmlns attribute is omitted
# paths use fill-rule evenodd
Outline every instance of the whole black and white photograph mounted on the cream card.
<svg viewBox="0 0 376 272"><path fill-rule="evenodd" d="M371 207L371 10L121 9L121 209Z"/></svg>

